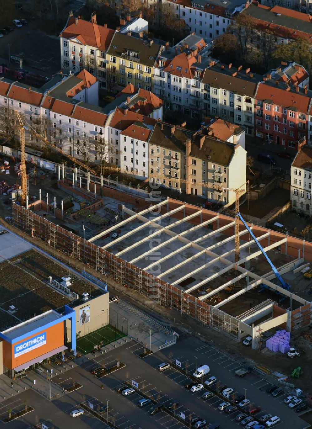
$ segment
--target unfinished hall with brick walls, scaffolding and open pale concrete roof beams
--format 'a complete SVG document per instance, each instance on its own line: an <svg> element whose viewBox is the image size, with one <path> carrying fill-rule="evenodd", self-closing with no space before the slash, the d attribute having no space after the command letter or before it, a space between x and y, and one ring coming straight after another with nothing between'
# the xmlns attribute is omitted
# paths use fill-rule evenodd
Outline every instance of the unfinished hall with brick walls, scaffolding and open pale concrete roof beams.
<svg viewBox="0 0 312 429"><path fill-rule="evenodd" d="M292 331L311 323L311 303L273 283L273 272L243 224L235 263L233 218L166 199L147 201L137 211L123 205L122 219L86 241L13 206L18 227L148 296L152 305L175 308L237 340L252 335L254 348L274 327ZM281 275L312 261L312 243L250 227ZM116 230L119 236L112 240L108 235ZM261 284L270 289L259 293Z"/></svg>

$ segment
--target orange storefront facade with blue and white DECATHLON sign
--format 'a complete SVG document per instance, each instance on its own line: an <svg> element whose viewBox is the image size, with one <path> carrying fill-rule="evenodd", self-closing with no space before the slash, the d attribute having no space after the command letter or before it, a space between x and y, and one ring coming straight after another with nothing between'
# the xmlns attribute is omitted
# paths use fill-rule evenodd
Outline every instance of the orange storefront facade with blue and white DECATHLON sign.
<svg viewBox="0 0 312 429"><path fill-rule="evenodd" d="M36 340L38 340L36 342ZM64 345L64 322L57 323L15 344L3 341L3 366L14 369ZM18 347L19 346L19 347ZM23 348L23 346L25 346Z"/></svg>

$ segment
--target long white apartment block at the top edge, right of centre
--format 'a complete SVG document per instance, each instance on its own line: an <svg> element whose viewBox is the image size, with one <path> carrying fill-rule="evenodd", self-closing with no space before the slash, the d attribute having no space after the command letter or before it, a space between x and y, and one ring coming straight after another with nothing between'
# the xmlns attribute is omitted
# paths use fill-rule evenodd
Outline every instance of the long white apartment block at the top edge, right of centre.
<svg viewBox="0 0 312 429"><path fill-rule="evenodd" d="M246 2L242 0L223 1L222 5L217 0L209 3L204 0L163 0L163 3L169 4L172 15L183 19L190 32L201 36L206 43L225 33L234 14L246 7Z"/></svg>

